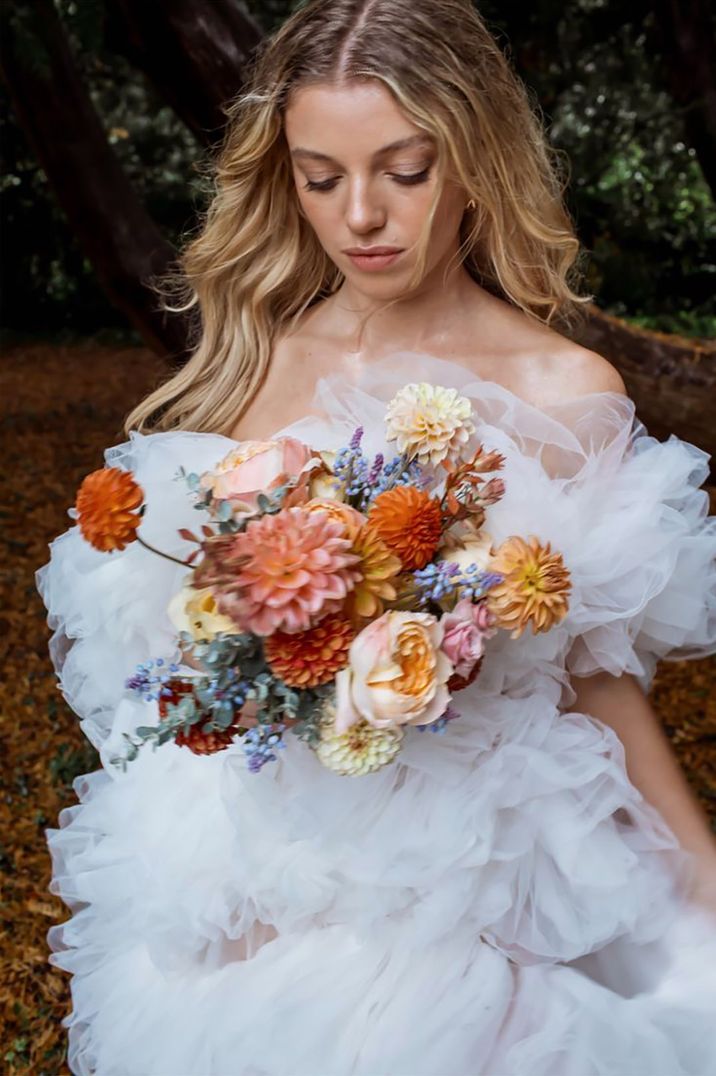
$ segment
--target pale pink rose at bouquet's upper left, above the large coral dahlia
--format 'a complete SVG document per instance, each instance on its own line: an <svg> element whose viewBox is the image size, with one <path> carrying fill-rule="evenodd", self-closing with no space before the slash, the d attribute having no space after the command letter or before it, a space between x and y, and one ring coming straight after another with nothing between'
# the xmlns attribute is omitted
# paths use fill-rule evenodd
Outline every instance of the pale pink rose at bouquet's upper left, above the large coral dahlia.
<svg viewBox="0 0 716 1076"><path fill-rule="evenodd" d="M214 470L201 476L200 484L211 490L215 500L230 500L254 509L259 493L265 493L284 475L292 478L299 475L312 456L308 445L293 437L241 441Z"/></svg>

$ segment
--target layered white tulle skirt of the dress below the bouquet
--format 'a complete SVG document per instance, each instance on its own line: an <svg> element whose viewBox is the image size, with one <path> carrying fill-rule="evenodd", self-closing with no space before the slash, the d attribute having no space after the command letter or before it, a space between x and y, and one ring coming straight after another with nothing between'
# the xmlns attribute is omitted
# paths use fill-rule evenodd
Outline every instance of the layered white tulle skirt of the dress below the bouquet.
<svg viewBox="0 0 716 1076"><path fill-rule="evenodd" d="M716 924L615 735L461 702L362 778L297 740L259 775L167 745L78 778L48 833L73 1071L708 1073Z"/></svg>

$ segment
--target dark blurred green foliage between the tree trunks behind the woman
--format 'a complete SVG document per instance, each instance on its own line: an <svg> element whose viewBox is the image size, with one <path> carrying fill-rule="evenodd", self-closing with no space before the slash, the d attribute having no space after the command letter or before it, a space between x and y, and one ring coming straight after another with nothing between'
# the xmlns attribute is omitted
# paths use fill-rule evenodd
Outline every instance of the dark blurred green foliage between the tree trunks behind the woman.
<svg viewBox="0 0 716 1076"><path fill-rule="evenodd" d="M107 137L173 244L209 197L205 145L116 49L102 0L55 0ZM269 31L294 6L251 0ZM648 3L513 0L479 9L565 154L567 203L588 252L586 287L641 326L716 336L716 204L664 87ZM19 9L22 11L22 8ZM57 207L0 85L5 336L103 330L139 340L109 302Z"/></svg>

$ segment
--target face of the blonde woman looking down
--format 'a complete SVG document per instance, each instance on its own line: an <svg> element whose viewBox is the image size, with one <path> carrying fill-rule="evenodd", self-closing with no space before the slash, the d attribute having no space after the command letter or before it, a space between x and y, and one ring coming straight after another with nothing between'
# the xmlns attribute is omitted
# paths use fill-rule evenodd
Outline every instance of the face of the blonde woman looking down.
<svg viewBox="0 0 716 1076"><path fill-rule="evenodd" d="M459 246L465 194L440 183L433 139L382 83L295 90L285 136L304 214L356 292L380 300L407 292L436 187L425 279L445 269Z"/></svg>

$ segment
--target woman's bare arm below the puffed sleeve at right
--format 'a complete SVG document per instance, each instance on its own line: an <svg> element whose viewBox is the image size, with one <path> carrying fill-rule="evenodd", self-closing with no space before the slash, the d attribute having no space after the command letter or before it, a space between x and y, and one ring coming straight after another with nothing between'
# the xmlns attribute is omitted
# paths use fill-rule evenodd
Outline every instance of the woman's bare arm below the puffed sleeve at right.
<svg viewBox="0 0 716 1076"><path fill-rule="evenodd" d="M632 676L600 672L572 677L571 683L577 698L570 709L614 728L624 748L632 784L696 856L693 900L716 914L716 839L638 682Z"/></svg>

